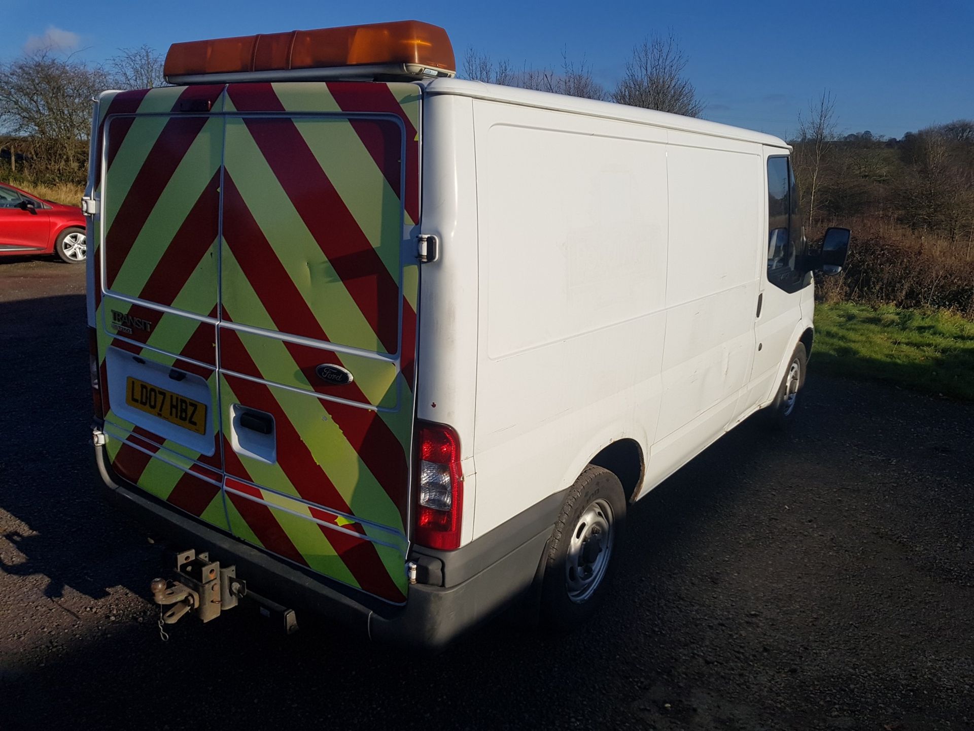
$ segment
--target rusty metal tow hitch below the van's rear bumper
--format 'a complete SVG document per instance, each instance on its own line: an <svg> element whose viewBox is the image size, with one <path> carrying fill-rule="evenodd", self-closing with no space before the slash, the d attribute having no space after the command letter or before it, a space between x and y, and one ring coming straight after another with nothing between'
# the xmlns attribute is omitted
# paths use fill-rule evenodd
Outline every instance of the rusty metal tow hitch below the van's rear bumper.
<svg viewBox="0 0 974 731"><path fill-rule="evenodd" d="M151 584L152 598L163 611L162 621L172 625L190 612L202 621L216 619L220 612L233 609L246 595L246 583L237 578L237 567L220 567L209 554L196 551L176 554L174 579L157 578Z"/></svg>

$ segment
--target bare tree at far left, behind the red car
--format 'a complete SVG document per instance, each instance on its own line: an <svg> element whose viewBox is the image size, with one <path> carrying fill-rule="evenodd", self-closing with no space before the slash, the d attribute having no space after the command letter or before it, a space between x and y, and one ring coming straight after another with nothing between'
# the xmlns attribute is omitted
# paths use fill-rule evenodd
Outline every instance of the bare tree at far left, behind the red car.
<svg viewBox="0 0 974 731"><path fill-rule="evenodd" d="M20 138L34 173L83 177L92 97L106 86L100 67L46 50L0 65L0 130Z"/></svg>

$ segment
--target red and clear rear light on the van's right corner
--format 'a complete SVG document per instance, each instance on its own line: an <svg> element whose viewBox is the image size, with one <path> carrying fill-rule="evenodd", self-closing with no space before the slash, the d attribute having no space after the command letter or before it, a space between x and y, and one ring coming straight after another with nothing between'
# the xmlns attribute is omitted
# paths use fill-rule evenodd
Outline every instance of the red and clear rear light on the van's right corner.
<svg viewBox="0 0 974 731"><path fill-rule="evenodd" d="M460 548L464 473L460 438L444 424L419 422L416 428L416 530L421 546L443 551Z"/></svg>

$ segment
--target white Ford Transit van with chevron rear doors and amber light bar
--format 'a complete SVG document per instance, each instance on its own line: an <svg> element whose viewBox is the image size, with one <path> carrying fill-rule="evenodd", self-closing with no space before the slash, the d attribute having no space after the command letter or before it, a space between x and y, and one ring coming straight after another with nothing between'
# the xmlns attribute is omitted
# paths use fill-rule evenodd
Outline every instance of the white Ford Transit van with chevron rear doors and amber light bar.
<svg viewBox="0 0 974 731"><path fill-rule="evenodd" d="M579 623L629 503L795 417L848 231L806 244L771 135L458 80L452 51L259 66L267 38L230 39L240 68L177 44L174 91L95 112L95 453L178 550L166 621L249 598L440 647L528 598Z"/></svg>

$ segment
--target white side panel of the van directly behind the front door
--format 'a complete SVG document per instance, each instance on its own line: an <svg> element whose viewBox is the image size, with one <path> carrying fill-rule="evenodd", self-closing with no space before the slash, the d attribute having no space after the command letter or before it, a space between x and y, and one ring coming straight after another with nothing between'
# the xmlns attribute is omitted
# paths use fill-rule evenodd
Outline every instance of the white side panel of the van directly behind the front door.
<svg viewBox="0 0 974 731"><path fill-rule="evenodd" d="M762 250L761 146L681 132L669 140L663 398L649 486L738 413L754 362Z"/></svg>

